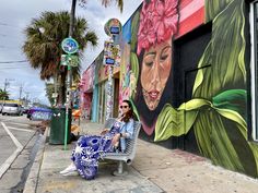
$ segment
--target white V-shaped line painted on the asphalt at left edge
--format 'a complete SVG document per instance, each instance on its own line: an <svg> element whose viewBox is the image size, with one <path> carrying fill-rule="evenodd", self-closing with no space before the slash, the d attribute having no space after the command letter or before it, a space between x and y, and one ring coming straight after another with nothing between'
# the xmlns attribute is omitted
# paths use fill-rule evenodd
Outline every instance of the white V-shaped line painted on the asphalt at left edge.
<svg viewBox="0 0 258 193"><path fill-rule="evenodd" d="M13 143L17 147L16 150L0 166L0 179L2 178L3 173L8 170L8 168L12 165L12 162L15 160L17 155L22 152L23 146L22 144L15 138L15 136L9 131L8 126L1 122L3 129L9 134L9 136L12 138Z"/></svg>

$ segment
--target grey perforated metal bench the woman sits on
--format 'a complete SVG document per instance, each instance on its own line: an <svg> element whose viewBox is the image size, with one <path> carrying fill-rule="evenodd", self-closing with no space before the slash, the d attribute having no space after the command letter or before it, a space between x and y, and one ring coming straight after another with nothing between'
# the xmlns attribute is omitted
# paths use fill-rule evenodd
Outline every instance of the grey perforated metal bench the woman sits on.
<svg viewBox="0 0 258 193"><path fill-rule="evenodd" d="M115 118L110 118L105 122L105 128L112 128L113 123L115 122ZM137 152L137 141L139 136L139 132L141 129L141 122L134 121L133 122L133 137L127 140L127 147L125 153L106 153L104 159L112 159L118 161L117 171L114 172L115 176L124 176L127 174L127 171L124 171L124 162L127 165L131 165L136 152Z"/></svg>

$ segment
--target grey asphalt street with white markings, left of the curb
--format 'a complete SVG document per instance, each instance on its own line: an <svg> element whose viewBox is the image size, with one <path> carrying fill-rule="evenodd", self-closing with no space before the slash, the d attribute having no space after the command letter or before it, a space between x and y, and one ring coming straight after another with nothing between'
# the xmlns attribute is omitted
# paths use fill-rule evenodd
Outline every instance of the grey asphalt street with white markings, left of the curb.
<svg viewBox="0 0 258 193"><path fill-rule="evenodd" d="M0 190L22 192L40 138L26 116L0 116Z"/></svg>

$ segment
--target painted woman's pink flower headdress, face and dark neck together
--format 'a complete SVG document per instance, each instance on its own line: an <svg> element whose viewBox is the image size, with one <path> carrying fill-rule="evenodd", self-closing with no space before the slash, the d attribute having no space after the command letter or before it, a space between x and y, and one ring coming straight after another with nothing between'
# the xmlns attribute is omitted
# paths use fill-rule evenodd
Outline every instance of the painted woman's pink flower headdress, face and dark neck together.
<svg viewBox="0 0 258 193"><path fill-rule="evenodd" d="M172 98L172 43L178 33L178 0L144 0L140 10L138 60L132 57L131 65L140 69L134 104L148 135L153 134L160 112Z"/></svg>

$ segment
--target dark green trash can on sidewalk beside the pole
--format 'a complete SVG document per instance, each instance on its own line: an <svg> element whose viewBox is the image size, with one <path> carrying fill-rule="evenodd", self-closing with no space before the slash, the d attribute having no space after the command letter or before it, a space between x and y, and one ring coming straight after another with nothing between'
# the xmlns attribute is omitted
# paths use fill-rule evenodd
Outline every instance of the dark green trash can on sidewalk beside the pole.
<svg viewBox="0 0 258 193"><path fill-rule="evenodd" d="M67 143L71 142L71 109L68 113L68 131ZM49 144L62 145L64 144L66 133L66 108L54 108L50 123Z"/></svg>

